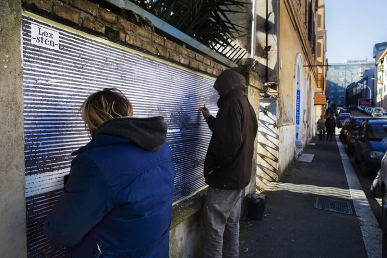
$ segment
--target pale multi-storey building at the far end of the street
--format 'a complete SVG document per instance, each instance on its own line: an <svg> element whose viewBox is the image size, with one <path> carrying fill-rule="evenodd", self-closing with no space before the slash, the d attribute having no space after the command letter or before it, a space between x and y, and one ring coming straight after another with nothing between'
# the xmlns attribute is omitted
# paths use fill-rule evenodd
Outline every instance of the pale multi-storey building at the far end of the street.
<svg viewBox="0 0 387 258"><path fill-rule="evenodd" d="M363 73L372 70L374 65L374 62L367 60L345 60L341 63L331 63L327 73L329 105L345 105L346 87L361 80Z"/></svg>

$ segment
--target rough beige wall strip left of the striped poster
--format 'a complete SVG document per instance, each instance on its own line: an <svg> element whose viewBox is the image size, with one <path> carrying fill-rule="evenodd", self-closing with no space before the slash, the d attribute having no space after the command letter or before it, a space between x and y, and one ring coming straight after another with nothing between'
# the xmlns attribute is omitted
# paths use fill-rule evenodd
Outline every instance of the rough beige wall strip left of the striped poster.
<svg viewBox="0 0 387 258"><path fill-rule="evenodd" d="M21 3L0 1L0 257L26 257Z"/></svg>

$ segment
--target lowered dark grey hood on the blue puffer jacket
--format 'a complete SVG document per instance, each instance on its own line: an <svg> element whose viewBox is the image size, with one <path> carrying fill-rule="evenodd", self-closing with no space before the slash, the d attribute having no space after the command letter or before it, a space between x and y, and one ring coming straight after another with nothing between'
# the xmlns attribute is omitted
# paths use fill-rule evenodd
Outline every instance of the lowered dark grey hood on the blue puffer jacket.
<svg viewBox="0 0 387 258"><path fill-rule="evenodd" d="M101 134L126 138L147 151L157 151L167 140L167 124L162 116L119 117L104 122L96 137Z"/></svg>

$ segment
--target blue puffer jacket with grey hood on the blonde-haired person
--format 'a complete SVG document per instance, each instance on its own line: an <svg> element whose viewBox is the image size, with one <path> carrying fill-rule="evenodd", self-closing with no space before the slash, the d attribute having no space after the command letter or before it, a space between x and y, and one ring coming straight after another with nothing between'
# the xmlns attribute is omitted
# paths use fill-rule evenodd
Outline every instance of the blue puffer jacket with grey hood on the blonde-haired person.
<svg viewBox="0 0 387 258"><path fill-rule="evenodd" d="M168 257L175 170L163 117L108 120L77 154L46 236L72 258Z"/></svg>

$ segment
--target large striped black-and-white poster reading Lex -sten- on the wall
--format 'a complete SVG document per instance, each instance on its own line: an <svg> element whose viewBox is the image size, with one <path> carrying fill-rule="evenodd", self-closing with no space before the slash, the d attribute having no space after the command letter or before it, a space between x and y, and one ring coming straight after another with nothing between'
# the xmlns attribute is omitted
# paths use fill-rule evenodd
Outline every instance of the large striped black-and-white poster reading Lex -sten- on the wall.
<svg viewBox="0 0 387 258"><path fill-rule="evenodd" d="M28 257L63 257L43 222L63 190L70 154L90 141L79 111L93 92L118 88L134 115L165 117L175 201L205 185L211 131L198 108L216 114L214 78L33 15L23 16L22 39Z"/></svg>

